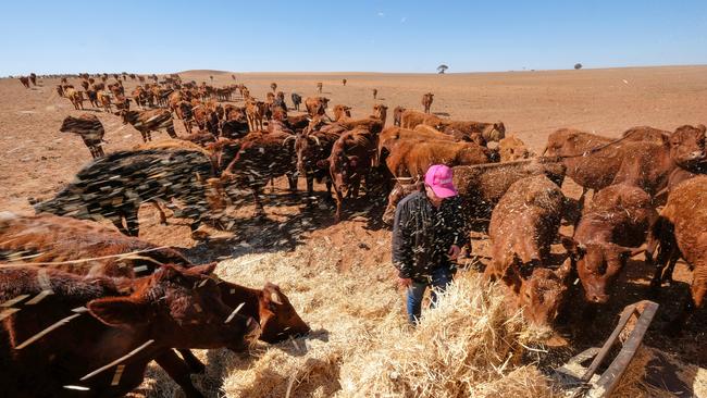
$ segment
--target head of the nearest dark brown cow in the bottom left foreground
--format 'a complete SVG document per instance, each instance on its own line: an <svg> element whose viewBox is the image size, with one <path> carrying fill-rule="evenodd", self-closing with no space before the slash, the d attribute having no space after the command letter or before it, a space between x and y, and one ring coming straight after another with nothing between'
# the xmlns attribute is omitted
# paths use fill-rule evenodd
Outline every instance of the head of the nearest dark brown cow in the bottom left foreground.
<svg viewBox="0 0 707 398"><path fill-rule="evenodd" d="M109 297L86 306L109 326L148 331L163 346L241 350L258 332L258 323L235 314L221 298L210 275L215 263L185 269L163 265L150 276L133 282L134 293Z"/></svg>

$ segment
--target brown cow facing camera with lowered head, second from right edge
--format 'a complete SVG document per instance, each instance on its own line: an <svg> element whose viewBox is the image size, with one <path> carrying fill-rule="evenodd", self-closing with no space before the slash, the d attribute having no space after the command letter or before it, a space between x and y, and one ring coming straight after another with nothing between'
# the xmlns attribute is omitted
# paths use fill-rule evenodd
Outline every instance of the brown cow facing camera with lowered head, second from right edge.
<svg viewBox="0 0 707 398"><path fill-rule="evenodd" d="M610 185L594 196L574 236L562 241L576 264L587 301L608 301L609 285L629 258L643 251L638 247L657 219L650 196L635 186Z"/></svg>

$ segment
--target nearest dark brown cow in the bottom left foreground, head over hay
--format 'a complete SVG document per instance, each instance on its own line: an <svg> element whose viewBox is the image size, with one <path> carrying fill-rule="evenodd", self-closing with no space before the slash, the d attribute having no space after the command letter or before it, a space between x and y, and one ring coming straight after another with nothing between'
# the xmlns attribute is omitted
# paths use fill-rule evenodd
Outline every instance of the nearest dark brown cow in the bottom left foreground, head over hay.
<svg viewBox="0 0 707 398"><path fill-rule="evenodd" d="M120 397L142 382L152 360L189 388L188 371L172 348L241 350L259 332L257 322L223 302L209 277L214 266L163 265L138 279L0 268L0 300L27 295L35 302L20 301L13 307L20 311L3 316L4 393L49 397L88 388L90 395ZM65 324L49 332L58 321ZM114 361L117 368L108 366ZM185 391L200 395L193 386Z"/></svg>

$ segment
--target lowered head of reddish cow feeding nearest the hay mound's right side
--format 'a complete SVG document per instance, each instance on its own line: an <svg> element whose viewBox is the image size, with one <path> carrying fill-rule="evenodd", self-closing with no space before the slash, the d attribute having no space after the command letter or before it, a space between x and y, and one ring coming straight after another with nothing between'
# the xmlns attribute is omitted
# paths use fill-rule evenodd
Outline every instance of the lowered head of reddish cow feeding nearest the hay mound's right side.
<svg viewBox="0 0 707 398"><path fill-rule="evenodd" d="M571 271L572 261L568 258L557 270L534 269L522 282L518 303L528 321L538 326L551 325L567 298Z"/></svg>

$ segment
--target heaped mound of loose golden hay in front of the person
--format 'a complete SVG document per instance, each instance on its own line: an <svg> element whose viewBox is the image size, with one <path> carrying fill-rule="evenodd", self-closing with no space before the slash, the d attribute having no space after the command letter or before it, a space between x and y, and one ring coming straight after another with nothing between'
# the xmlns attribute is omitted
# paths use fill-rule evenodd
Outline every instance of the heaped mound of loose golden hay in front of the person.
<svg viewBox="0 0 707 398"><path fill-rule="evenodd" d="M462 274L413 332L390 328L376 336L377 348L344 364L343 395L546 397L549 386L538 372L510 373L525 328L518 313L508 315L497 287Z"/></svg>

